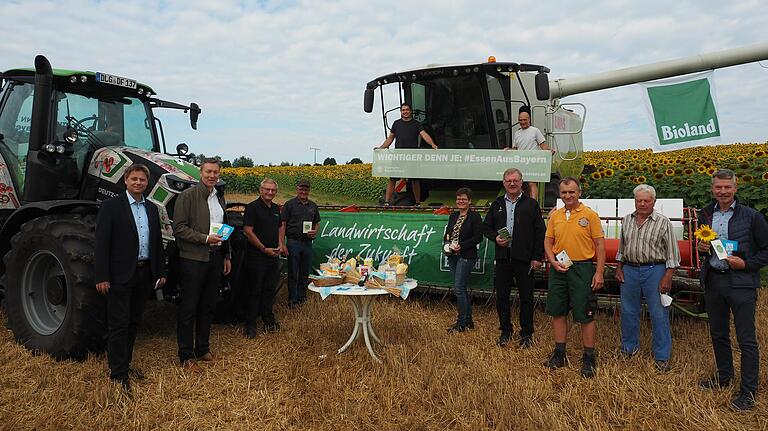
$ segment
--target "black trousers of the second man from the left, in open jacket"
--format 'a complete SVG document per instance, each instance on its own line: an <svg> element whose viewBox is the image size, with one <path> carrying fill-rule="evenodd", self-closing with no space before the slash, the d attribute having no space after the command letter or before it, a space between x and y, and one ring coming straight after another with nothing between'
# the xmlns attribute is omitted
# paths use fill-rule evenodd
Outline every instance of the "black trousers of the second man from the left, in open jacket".
<svg viewBox="0 0 768 431"><path fill-rule="evenodd" d="M181 304L177 311L176 339L181 363L210 351L209 338L219 300L224 254L212 252L208 262L179 258Z"/></svg>

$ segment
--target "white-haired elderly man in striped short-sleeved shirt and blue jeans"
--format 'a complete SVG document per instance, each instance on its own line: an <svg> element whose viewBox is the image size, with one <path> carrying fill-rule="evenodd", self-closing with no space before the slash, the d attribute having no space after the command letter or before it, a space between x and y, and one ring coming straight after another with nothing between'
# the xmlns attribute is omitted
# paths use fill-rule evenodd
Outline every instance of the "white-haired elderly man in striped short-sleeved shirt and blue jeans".
<svg viewBox="0 0 768 431"><path fill-rule="evenodd" d="M622 220L616 253L616 279L621 283L621 352L632 357L640 349L640 310L641 297L644 297L651 315L656 369L667 372L672 331L669 308L661 304L661 294L672 289L672 275L680 264L680 250L672 223L653 209L656 189L640 184L633 193L635 211Z"/></svg>

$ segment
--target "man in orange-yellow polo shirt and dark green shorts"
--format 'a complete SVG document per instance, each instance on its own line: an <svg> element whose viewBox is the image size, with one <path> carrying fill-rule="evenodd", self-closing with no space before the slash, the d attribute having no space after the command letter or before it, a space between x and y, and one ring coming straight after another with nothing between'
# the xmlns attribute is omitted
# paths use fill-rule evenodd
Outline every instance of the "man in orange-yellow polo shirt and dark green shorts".
<svg viewBox="0 0 768 431"><path fill-rule="evenodd" d="M551 369L566 365L565 340L568 335L568 310L573 309L573 320L581 323L584 354L581 375L594 377L595 321L597 308L595 291L603 287L605 267L605 239L600 217L579 202L579 180L565 177L560 180L560 199L565 206L553 211L544 235L544 253L551 266L546 312L552 316L555 350L547 360ZM597 268L592 259L597 260Z"/></svg>

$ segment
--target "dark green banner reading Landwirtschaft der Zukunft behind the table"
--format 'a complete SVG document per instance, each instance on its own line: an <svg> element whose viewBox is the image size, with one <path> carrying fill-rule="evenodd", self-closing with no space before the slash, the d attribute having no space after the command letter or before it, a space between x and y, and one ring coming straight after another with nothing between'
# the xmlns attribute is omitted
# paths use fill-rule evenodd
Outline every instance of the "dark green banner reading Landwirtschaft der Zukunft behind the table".
<svg viewBox="0 0 768 431"><path fill-rule="evenodd" d="M372 258L378 265L398 250L408 264L408 276L422 284L451 287L448 259L440 252L448 216L429 213L320 213L314 241L313 267L332 257ZM492 289L493 244L483 239L478 260L470 276L472 289Z"/></svg>

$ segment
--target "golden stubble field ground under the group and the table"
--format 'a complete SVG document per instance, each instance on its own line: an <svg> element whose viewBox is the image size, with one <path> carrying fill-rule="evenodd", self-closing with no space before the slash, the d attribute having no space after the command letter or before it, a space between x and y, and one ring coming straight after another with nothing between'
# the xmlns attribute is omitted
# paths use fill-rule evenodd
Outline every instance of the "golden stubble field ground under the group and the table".
<svg viewBox="0 0 768 431"><path fill-rule="evenodd" d="M0 313L0 430L768 429L765 354L753 412L729 411L730 389L696 387L712 370L704 321L675 318L673 368L658 374L648 322L641 355L625 360L618 355L617 318L601 313L598 375L584 380L577 327L570 331L571 366L554 372L543 366L552 338L541 310L537 344L502 349L494 344L492 302L475 305L477 329L449 335L449 301L379 300L374 328L386 342L377 349L380 365L360 341L336 355L351 332L351 307L343 298L309 295L302 308L288 310L280 292L277 333L246 340L239 327L215 325L212 346L224 359L202 375L177 365L175 307L148 303L134 354L147 379L134 384L133 399L109 382L105 356L85 362L33 356L13 341ZM764 349L767 312L762 295L757 325Z"/></svg>

